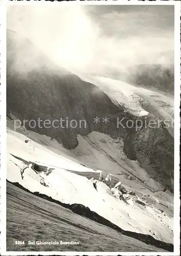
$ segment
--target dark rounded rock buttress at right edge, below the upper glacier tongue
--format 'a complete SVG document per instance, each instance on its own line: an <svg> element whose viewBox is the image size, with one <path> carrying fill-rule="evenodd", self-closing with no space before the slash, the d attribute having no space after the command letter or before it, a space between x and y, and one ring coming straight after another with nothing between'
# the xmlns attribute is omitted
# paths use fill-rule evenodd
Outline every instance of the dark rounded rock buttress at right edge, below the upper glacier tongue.
<svg viewBox="0 0 181 256"><path fill-rule="evenodd" d="M142 129L128 134L124 151L132 160L138 160L148 174L173 193L174 140L166 128Z"/></svg>

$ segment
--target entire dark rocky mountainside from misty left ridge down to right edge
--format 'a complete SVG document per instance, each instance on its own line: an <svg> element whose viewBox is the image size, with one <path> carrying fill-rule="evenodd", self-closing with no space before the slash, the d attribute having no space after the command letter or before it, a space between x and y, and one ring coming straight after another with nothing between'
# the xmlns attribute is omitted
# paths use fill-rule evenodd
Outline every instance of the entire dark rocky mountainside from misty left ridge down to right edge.
<svg viewBox="0 0 181 256"><path fill-rule="evenodd" d="M19 46L16 37L17 33L7 31L7 113L11 111L21 121L35 120L33 128L26 122L28 130L54 138L67 149L77 146L77 134L97 131L112 138L120 136L124 140L125 154L138 160L148 174L173 190L173 139L164 127L139 131L135 131L134 126L126 128L126 121L135 122L137 117L125 113L94 84L57 67L29 40L21 39ZM101 120L109 117L109 123L96 124L96 117ZM123 117L125 128L117 128L117 118ZM46 128L42 122L37 125L38 118L50 120L50 127ZM64 127L59 125L61 118L65 120ZM151 118L153 116L147 116L147 120ZM70 126L73 119L78 122L76 128ZM53 127L54 120L57 121ZM79 125L80 120L86 121L86 127L84 122Z"/></svg>

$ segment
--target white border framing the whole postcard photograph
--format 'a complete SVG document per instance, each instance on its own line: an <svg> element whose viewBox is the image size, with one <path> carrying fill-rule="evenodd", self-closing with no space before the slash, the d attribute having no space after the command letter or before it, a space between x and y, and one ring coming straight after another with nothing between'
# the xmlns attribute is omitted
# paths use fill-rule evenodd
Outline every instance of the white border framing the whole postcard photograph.
<svg viewBox="0 0 181 256"><path fill-rule="evenodd" d="M88 251L6 251L6 7L8 5L174 5L174 251L169 255L179 255L180 249L180 191L179 191L179 142L180 142L180 1L8 1L0 3L0 49L1 49L1 255L168 255L168 252L88 252Z"/></svg>

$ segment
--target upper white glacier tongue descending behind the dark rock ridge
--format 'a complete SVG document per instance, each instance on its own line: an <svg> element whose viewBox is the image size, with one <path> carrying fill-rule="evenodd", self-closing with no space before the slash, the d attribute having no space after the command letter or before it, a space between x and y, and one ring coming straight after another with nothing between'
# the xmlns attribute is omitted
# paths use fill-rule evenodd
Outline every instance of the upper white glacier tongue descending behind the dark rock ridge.
<svg viewBox="0 0 181 256"><path fill-rule="evenodd" d="M81 78L96 84L112 102L123 105L126 111L132 115L144 116L152 113L162 120L169 122L173 120L174 98L171 95L168 96L159 90L155 92L107 77L87 76ZM169 131L171 130L169 129Z"/></svg>

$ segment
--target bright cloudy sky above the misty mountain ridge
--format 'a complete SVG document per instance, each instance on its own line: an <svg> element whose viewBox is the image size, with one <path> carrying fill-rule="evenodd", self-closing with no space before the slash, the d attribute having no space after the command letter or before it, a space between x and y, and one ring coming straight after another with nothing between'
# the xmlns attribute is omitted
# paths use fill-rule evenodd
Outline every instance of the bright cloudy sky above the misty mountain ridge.
<svg viewBox="0 0 181 256"><path fill-rule="evenodd" d="M7 27L74 72L173 63L173 6L10 6Z"/></svg>

